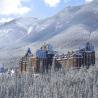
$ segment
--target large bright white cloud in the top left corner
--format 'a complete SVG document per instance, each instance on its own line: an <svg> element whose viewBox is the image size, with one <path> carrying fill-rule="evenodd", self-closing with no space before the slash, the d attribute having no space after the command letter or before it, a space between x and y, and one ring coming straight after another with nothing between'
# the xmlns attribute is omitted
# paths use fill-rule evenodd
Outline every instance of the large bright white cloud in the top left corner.
<svg viewBox="0 0 98 98"><path fill-rule="evenodd" d="M1 15L23 15L30 11L30 8L23 6L27 0L0 0Z"/></svg>

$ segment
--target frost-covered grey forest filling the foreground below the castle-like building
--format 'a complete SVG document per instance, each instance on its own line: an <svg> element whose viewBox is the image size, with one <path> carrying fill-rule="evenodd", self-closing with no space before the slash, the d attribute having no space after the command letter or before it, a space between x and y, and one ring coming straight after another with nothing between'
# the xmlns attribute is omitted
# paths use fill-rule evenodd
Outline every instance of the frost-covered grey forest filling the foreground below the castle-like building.
<svg viewBox="0 0 98 98"><path fill-rule="evenodd" d="M1 75L0 98L98 98L98 67Z"/></svg>

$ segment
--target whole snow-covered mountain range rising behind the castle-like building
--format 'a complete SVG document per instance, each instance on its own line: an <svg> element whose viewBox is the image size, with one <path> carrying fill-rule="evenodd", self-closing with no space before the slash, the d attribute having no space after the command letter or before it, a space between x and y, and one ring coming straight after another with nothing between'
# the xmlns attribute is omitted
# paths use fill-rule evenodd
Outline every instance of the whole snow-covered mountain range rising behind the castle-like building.
<svg viewBox="0 0 98 98"><path fill-rule="evenodd" d="M98 47L98 2L66 7L53 17L17 18L0 25L0 57L20 56L28 47L39 48L44 42L55 49L77 49L90 40ZM90 35L91 34L91 35Z"/></svg>

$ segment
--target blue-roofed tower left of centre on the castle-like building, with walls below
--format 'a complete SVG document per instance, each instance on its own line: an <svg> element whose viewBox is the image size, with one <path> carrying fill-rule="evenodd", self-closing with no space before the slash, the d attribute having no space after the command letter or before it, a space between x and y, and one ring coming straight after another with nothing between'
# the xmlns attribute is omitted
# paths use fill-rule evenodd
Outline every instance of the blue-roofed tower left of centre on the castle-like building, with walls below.
<svg viewBox="0 0 98 98"><path fill-rule="evenodd" d="M52 66L52 60L54 51L50 44L44 44L40 49L36 51L36 57L38 59L37 69L40 72L48 72Z"/></svg>

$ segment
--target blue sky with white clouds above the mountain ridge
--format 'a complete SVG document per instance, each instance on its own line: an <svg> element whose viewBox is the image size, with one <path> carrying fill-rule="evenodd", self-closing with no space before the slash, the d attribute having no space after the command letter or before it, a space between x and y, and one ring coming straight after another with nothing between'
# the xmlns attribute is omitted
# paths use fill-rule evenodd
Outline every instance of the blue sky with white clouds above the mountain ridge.
<svg viewBox="0 0 98 98"><path fill-rule="evenodd" d="M67 6L89 3L93 0L0 0L0 22L18 17L39 19L55 15Z"/></svg>

